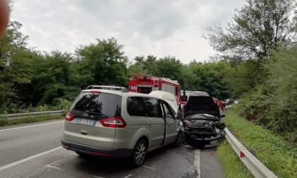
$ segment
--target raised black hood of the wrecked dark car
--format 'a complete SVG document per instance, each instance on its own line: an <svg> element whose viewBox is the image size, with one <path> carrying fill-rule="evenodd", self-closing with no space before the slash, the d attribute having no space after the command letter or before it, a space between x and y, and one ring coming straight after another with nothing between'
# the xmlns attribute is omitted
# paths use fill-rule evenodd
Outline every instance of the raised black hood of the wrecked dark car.
<svg viewBox="0 0 297 178"><path fill-rule="evenodd" d="M192 114L211 114L220 118L219 107L214 104L212 97L197 96L190 97L185 105L185 117Z"/></svg>

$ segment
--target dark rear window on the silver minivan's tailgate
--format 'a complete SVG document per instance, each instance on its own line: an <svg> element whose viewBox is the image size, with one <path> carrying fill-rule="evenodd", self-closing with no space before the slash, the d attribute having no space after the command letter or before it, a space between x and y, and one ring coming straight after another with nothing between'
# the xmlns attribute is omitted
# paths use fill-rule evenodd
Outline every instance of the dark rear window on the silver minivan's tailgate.
<svg viewBox="0 0 297 178"><path fill-rule="evenodd" d="M121 115L122 96L110 93L82 92L76 97L70 111L72 114L95 114L97 119ZM98 118L99 117L99 118Z"/></svg>

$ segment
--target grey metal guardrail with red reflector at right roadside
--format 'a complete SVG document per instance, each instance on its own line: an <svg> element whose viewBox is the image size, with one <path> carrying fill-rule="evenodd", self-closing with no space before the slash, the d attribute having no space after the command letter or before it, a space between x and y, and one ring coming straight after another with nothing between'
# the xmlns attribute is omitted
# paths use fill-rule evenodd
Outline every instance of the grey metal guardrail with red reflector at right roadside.
<svg viewBox="0 0 297 178"><path fill-rule="evenodd" d="M255 156L252 155L252 153L250 153L250 151L245 148L227 128L225 128L225 133L227 141L254 177L277 178L276 175L265 167L260 160L255 158Z"/></svg>

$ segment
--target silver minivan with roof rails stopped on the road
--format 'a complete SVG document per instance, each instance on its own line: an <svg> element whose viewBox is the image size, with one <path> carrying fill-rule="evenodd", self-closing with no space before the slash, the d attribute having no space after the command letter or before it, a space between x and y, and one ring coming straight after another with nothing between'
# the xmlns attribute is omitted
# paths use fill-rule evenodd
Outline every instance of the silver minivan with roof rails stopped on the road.
<svg viewBox="0 0 297 178"><path fill-rule="evenodd" d="M182 144L182 123L151 95L82 90L65 117L62 146L81 156L129 157L137 167L147 152L172 143Z"/></svg>

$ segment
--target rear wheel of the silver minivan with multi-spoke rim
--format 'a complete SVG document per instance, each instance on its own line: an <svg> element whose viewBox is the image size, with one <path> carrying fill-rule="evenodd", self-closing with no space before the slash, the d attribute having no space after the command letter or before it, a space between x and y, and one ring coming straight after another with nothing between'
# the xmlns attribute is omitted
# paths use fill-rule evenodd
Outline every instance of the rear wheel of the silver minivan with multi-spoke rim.
<svg viewBox="0 0 297 178"><path fill-rule="evenodd" d="M139 167L142 164L144 164L147 150L147 144L146 141L144 141L144 139L140 139L139 141L137 141L132 152L132 156L130 158L132 167Z"/></svg>

